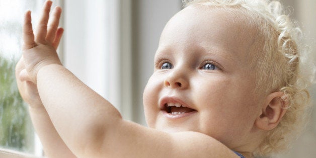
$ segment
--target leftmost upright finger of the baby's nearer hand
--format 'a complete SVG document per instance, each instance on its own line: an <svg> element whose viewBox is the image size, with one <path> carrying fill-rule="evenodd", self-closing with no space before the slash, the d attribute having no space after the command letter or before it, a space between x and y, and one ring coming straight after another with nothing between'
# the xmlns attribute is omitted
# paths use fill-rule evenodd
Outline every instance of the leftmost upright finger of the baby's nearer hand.
<svg viewBox="0 0 316 158"><path fill-rule="evenodd" d="M27 11L24 16L23 24L23 49L30 49L36 46L32 29L31 11Z"/></svg>

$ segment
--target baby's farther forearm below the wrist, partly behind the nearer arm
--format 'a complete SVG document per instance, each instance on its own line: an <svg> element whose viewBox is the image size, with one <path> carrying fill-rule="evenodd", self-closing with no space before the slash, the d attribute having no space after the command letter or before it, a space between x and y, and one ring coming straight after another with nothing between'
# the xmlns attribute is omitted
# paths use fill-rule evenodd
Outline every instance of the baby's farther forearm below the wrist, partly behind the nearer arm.
<svg viewBox="0 0 316 158"><path fill-rule="evenodd" d="M75 157L57 133L44 108L29 107L30 116L43 144L45 156Z"/></svg>

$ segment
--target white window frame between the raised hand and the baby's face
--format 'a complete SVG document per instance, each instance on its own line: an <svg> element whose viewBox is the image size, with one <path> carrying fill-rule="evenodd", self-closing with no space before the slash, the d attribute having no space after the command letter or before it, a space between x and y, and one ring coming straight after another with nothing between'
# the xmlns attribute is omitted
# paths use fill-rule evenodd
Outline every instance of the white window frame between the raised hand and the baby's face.
<svg viewBox="0 0 316 158"><path fill-rule="evenodd" d="M68 0L63 8L64 66L131 120L131 1Z"/></svg>

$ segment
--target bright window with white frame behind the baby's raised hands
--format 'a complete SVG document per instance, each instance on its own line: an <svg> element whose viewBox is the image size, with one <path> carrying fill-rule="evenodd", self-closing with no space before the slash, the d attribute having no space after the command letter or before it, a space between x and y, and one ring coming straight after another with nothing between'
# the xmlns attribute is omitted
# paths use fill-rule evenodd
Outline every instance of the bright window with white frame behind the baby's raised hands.
<svg viewBox="0 0 316 158"><path fill-rule="evenodd" d="M53 7L58 5L63 9L60 25L66 22L65 34L57 50L63 64L84 83L114 103L123 116L130 120L131 67L128 63L131 51L131 2L52 1ZM15 65L21 56L23 15L27 10L32 11L35 29L44 2L45 0L0 0L0 157L8 152L23 153L24 156L26 153L43 155L28 115L28 107L17 90ZM120 7L124 9L124 14L120 14ZM119 27L121 23L126 28ZM120 35L120 31L124 34ZM124 48L120 48L120 45ZM67 53L62 53L63 50ZM121 53L121 50L124 52ZM126 64L120 66L119 61L122 60ZM121 72L121 69L126 73ZM123 77L120 78L120 75ZM124 88L118 86L122 82ZM108 89L113 91L109 92ZM119 100L119 97L124 100Z"/></svg>

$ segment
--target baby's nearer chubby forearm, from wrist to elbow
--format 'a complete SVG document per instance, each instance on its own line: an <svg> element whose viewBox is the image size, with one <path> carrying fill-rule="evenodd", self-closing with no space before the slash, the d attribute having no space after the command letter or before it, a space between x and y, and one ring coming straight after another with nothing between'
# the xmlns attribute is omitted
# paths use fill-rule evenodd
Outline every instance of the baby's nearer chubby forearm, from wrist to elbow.
<svg viewBox="0 0 316 158"><path fill-rule="evenodd" d="M85 155L100 147L107 131L122 119L108 101L61 65L42 67L37 87L54 127L73 153Z"/></svg>

